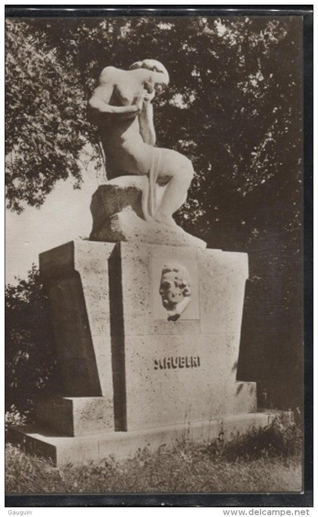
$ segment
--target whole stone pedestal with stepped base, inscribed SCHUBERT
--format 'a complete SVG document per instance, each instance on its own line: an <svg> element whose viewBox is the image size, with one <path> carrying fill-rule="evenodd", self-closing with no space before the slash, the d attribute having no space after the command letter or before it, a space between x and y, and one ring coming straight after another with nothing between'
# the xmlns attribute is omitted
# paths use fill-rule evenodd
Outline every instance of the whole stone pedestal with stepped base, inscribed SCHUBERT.
<svg viewBox="0 0 318 517"><path fill-rule="evenodd" d="M160 292L167 264L190 279L187 305L172 320ZM33 429L20 436L29 450L41 442L40 453L47 444L57 463L67 461L67 450L80 461L111 453L118 440L132 453L165 441L165 429L169 437L189 430L197 436L198 429L217 436L220 422L235 415L237 429L255 419L267 424L264 415L251 415L255 383L236 382L246 254L76 241L42 253L40 273L63 387L61 397L38 407L46 435Z"/></svg>

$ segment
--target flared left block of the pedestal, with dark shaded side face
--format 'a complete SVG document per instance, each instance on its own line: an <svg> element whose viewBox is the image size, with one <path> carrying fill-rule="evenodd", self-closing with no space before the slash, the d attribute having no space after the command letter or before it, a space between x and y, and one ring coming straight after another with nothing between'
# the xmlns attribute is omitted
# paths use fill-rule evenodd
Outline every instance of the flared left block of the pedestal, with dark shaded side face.
<svg viewBox="0 0 318 517"><path fill-rule="evenodd" d="M78 240L39 256L64 396L113 398L108 286L113 247Z"/></svg>

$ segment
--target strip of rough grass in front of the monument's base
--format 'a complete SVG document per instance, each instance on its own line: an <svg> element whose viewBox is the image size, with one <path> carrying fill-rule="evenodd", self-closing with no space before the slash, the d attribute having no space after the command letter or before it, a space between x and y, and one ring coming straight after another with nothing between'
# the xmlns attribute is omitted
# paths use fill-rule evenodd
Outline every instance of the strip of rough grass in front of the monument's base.
<svg viewBox="0 0 318 517"><path fill-rule="evenodd" d="M53 467L48 461L6 447L6 492L300 492L301 440L294 423L276 421L223 444L189 440L145 449L134 458L111 457L85 465Z"/></svg>

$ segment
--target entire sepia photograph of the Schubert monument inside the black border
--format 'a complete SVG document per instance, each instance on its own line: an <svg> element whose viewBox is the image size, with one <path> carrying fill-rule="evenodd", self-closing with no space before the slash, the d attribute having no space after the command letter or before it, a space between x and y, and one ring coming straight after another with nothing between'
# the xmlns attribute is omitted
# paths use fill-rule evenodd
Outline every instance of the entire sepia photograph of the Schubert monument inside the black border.
<svg viewBox="0 0 318 517"><path fill-rule="evenodd" d="M303 493L302 17L5 36L6 493Z"/></svg>

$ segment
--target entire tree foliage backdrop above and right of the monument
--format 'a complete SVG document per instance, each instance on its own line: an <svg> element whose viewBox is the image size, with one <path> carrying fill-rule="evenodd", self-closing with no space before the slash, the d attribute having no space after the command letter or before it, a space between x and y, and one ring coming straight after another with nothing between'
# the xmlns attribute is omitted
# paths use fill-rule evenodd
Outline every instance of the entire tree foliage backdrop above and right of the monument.
<svg viewBox="0 0 318 517"><path fill-rule="evenodd" d="M86 117L99 72L160 60L170 84L155 100L157 145L196 171L177 221L209 247L249 253L239 375L272 379L280 364L287 391L299 386L300 17L8 19L6 38L9 207L40 206L59 179L78 186L88 146L100 168Z"/></svg>

